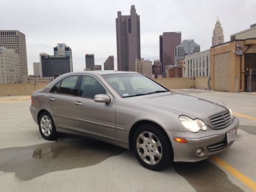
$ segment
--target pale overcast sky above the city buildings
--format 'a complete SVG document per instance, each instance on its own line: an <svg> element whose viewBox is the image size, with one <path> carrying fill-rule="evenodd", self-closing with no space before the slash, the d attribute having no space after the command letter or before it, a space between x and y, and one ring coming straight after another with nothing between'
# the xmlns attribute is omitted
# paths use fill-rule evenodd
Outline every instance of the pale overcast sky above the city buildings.
<svg viewBox="0 0 256 192"><path fill-rule="evenodd" d="M44 2L46 4L50 3L48 1ZM200 6L198 6L199 3ZM220 3L222 4L221 7L219 6ZM237 3L239 2L237 1ZM225 42L230 40L230 34L248 29L250 25L255 23L256 13L253 11L253 7L255 7L256 2L244 2L239 12L235 11L237 3L236 1L232 4L221 1L198 1L196 3L163 1L160 4L153 1L146 3L142 1L128 3L113 1L111 9L105 9L109 4L104 1L94 3L77 1L75 5L61 1L61 3L51 3L51 7L48 9L33 9L39 3L29 1L20 3L17 1L17 5L13 6L9 2L3 2L3 6L12 6L12 10L11 12L7 9L3 10L3 14L8 16L0 18L0 22L3 30L19 30L26 34L29 74L33 74L32 63L39 61L38 53L51 52L52 45L57 42L66 42L72 47L74 71L83 70L84 52L95 53L97 55L95 64L97 65L103 65L108 55L114 55L115 69L117 69L115 33L117 11L122 11L124 15L127 15L131 5L135 4L141 22L141 57L153 61L159 59L158 38L159 34L163 32L181 31L182 40L195 39L201 45L201 50L206 50L211 46L211 36L215 27L216 16L220 18ZM84 4L91 11L82 11ZM69 29L63 22L51 22L52 15L47 15L54 12L56 16L62 10L67 9L68 6L70 7L69 13L72 14L72 17L68 18ZM203 9L199 7L203 7ZM179 14L181 9L183 13ZM99 13L103 10L105 12L104 17ZM195 10L200 11L195 12ZM19 14L19 20L16 19L16 14ZM30 15L33 15L33 17ZM179 15L179 20L176 18L177 15ZM90 21L90 18L94 18L93 21ZM231 24L233 18L236 18L236 25ZM86 27L82 25L84 20L88 20ZM47 25L42 25L46 23ZM85 31L85 29L87 30Z"/></svg>

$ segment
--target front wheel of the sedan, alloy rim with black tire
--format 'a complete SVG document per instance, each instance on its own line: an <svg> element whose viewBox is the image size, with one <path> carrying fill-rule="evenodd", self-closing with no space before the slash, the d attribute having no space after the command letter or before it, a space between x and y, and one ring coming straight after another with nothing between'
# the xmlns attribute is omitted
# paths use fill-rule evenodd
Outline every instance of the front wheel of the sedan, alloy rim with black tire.
<svg viewBox="0 0 256 192"><path fill-rule="evenodd" d="M153 124L144 124L134 133L133 152L142 166L161 170L173 162L173 149L169 138Z"/></svg>

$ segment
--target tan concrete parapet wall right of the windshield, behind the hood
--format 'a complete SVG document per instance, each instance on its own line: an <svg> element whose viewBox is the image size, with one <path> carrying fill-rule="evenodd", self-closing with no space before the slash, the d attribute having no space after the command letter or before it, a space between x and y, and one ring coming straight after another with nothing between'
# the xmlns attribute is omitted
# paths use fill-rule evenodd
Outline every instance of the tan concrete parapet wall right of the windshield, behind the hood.
<svg viewBox="0 0 256 192"><path fill-rule="evenodd" d="M196 86L198 89L208 89L208 77L173 77L154 79L168 89L190 89Z"/></svg>

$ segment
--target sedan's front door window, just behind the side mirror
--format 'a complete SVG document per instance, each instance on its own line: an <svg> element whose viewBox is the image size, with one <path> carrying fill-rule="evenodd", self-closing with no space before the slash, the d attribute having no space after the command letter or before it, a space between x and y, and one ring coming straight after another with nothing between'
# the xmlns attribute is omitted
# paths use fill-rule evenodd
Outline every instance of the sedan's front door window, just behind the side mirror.
<svg viewBox="0 0 256 192"><path fill-rule="evenodd" d="M106 90L94 77L83 75L79 89L79 96L94 99L94 96L98 94L106 94Z"/></svg>

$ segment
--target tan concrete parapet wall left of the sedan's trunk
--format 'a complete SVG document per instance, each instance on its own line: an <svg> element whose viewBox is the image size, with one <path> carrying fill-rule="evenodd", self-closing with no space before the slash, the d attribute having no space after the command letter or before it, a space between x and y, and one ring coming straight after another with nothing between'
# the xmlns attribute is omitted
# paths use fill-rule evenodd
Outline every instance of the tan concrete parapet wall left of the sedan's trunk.
<svg viewBox="0 0 256 192"><path fill-rule="evenodd" d="M34 90L44 88L46 83L13 83L0 84L0 96L31 95Z"/></svg>

